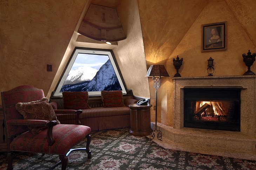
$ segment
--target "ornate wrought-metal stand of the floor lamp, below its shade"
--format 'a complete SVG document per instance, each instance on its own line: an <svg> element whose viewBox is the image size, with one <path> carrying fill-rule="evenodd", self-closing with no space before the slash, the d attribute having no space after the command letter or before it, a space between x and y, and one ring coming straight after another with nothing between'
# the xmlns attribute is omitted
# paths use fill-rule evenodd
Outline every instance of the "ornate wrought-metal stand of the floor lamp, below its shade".
<svg viewBox="0 0 256 170"><path fill-rule="evenodd" d="M157 90L160 88L160 85L161 85L161 76L159 76L159 77L153 76L153 86L156 89L156 123L157 123ZM161 130L157 130L156 124L155 124L155 129L149 135L150 139L151 140L154 139L155 132L157 132L157 135L156 135L157 139L162 141L162 132L161 132Z"/></svg>

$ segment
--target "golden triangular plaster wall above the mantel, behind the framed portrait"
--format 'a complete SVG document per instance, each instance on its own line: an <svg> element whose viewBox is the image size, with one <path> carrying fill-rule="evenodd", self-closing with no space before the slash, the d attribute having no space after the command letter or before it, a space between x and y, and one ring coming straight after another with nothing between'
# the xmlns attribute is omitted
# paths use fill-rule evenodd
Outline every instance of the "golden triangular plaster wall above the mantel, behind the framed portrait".
<svg viewBox="0 0 256 170"><path fill-rule="evenodd" d="M212 8L215 6L215 9ZM216 11L218 11L216 13ZM201 52L202 24L227 21L227 50ZM252 26L253 27L253 26ZM177 55L183 57L183 64L180 69L182 76L207 76L207 64L209 57L214 59L214 75L230 76L243 75L247 67L243 62L243 53L248 50L256 52L252 41L240 25L228 4L223 0L212 0L203 9L198 19L193 23L180 44L172 53L167 65L169 73L174 73L175 69L172 59ZM256 64L251 70L256 72Z"/></svg>

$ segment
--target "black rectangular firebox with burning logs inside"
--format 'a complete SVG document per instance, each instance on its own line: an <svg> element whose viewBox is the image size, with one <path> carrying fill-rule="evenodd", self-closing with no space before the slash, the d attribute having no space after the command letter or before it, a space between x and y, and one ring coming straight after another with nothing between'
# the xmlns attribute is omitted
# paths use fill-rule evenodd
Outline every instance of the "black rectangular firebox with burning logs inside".
<svg viewBox="0 0 256 170"><path fill-rule="evenodd" d="M184 88L184 127L240 131L240 88Z"/></svg>

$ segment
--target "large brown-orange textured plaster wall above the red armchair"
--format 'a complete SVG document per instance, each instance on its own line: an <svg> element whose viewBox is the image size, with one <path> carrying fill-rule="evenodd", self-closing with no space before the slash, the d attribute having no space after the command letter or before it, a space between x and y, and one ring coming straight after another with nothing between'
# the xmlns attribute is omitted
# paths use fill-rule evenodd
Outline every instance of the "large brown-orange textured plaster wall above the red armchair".
<svg viewBox="0 0 256 170"><path fill-rule="evenodd" d="M85 3L0 1L1 91L32 85L48 93Z"/></svg>

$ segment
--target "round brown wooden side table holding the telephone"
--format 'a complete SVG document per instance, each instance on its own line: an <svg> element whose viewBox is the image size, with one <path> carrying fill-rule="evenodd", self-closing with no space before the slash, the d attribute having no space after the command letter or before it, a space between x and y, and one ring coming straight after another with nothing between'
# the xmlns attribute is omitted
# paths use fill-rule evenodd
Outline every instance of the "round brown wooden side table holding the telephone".
<svg viewBox="0 0 256 170"><path fill-rule="evenodd" d="M151 104L136 105L130 104L130 122L131 129L129 133L134 136L148 136L151 133L150 128L150 108Z"/></svg>

